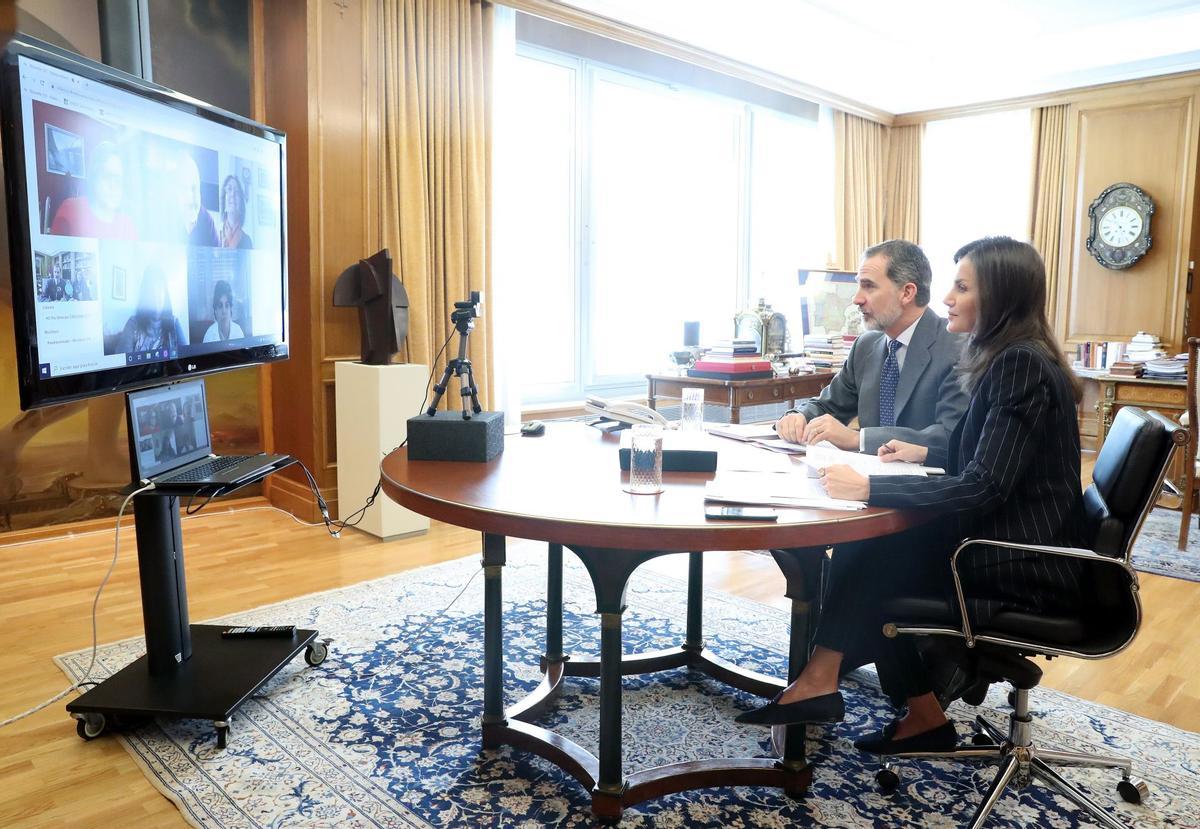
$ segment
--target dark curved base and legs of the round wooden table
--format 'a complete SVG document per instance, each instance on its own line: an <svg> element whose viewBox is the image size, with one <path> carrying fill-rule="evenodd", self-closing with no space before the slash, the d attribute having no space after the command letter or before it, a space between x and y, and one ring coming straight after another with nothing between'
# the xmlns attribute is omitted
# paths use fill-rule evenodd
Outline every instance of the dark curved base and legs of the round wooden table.
<svg viewBox="0 0 1200 829"><path fill-rule="evenodd" d="M622 653L620 624L625 611L625 585L641 564L667 553L572 547L592 576L600 613L600 659L572 659L563 643L563 546L550 545L546 601L546 655L542 681L524 699L502 710L502 595L504 537L484 536L484 720L485 749L511 745L554 763L592 793L592 812L602 824L616 824L622 812L646 800L694 788L713 786L778 786L791 797L802 795L812 780L804 757L804 726L790 726L784 756L775 758L714 758L670 763L626 775L622 771L620 678L688 667L733 687L772 697L784 683L740 668L704 651L701 638L703 564L700 553L689 553L688 632L683 645L648 654ZM799 674L809 654L809 617L820 591L824 551L775 551L787 595L792 599L788 675ZM565 737L533 725L558 696L566 677L600 679L599 756Z"/></svg>

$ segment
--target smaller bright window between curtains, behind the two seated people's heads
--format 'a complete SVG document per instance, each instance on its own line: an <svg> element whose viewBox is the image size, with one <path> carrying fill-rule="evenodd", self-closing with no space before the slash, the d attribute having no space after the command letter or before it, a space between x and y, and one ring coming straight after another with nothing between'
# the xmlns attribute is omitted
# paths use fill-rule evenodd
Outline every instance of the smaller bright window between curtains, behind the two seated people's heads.
<svg viewBox="0 0 1200 829"><path fill-rule="evenodd" d="M930 307L954 282L954 253L980 236L1028 240L1033 131L1028 109L930 121L922 146L920 241Z"/></svg>

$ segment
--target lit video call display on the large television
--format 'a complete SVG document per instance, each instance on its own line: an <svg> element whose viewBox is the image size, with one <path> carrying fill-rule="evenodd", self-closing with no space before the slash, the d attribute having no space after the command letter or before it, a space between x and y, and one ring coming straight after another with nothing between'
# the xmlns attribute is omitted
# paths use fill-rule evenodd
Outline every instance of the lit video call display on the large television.
<svg viewBox="0 0 1200 829"><path fill-rule="evenodd" d="M18 65L40 376L278 342L281 146Z"/></svg>

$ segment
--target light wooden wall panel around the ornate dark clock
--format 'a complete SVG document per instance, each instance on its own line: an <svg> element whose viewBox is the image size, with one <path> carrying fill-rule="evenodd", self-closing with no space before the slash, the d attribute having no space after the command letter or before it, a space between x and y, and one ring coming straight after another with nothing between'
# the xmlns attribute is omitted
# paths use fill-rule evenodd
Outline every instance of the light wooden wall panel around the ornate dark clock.
<svg viewBox="0 0 1200 829"><path fill-rule="evenodd" d="M1057 334L1063 342L1158 334L1178 348L1195 182L1195 88L1090 100L1072 107L1073 187L1063 216ZM1156 205L1153 245L1112 271L1087 252L1087 208L1109 185L1130 181Z"/></svg>

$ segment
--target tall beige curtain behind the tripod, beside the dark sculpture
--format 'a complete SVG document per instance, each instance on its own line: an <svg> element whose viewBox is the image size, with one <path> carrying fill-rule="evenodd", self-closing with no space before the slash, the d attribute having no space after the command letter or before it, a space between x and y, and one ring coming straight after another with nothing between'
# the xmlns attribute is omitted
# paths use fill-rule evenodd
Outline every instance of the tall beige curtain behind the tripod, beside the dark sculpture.
<svg viewBox="0 0 1200 829"><path fill-rule="evenodd" d="M481 0L383 4L384 242L409 300L401 356L433 366L454 334L450 313L469 292L491 289L492 5ZM490 406L491 337L476 320L469 358ZM457 355L457 335L446 347ZM461 406L457 383L446 408Z"/></svg>

